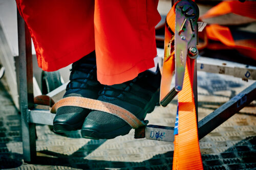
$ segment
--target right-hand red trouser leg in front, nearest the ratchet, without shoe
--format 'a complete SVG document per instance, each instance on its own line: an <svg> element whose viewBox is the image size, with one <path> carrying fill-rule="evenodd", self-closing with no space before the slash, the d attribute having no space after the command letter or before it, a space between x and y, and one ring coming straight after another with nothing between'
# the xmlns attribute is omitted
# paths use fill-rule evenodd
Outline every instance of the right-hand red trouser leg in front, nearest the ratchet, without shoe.
<svg viewBox="0 0 256 170"><path fill-rule="evenodd" d="M97 77L101 84L129 81L154 66L158 0L95 1Z"/></svg>

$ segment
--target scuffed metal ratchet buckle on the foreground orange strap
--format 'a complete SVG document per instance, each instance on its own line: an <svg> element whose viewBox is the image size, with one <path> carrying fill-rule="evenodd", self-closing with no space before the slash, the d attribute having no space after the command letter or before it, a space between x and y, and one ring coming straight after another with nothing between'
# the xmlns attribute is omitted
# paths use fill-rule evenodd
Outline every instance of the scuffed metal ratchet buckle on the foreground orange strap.
<svg viewBox="0 0 256 170"><path fill-rule="evenodd" d="M198 57L198 17L199 9L195 2L182 0L176 5L174 35L175 87L160 101L161 106L167 106L182 90L187 56L192 59Z"/></svg>

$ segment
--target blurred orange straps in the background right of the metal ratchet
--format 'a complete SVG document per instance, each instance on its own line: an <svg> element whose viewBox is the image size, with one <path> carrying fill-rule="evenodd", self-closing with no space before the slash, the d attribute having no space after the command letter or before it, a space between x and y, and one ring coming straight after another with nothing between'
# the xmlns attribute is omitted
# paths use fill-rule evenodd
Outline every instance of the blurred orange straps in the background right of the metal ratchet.
<svg viewBox="0 0 256 170"><path fill-rule="evenodd" d="M249 18L256 19L256 2L246 1L244 3L238 1L225 1L212 7L204 15L200 16L201 19L212 18L228 13L234 13ZM250 57L256 60L256 39L255 36L241 37L239 39L234 39L232 32L226 26L220 26L217 24L212 24L206 26L205 38L214 40L208 43L208 40L204 40L207 47L210 50L223 50L223 49L236 49L244 56ZM204 38L204 39L205 39ZM221 43L218 43L221 42Z"/></svg>

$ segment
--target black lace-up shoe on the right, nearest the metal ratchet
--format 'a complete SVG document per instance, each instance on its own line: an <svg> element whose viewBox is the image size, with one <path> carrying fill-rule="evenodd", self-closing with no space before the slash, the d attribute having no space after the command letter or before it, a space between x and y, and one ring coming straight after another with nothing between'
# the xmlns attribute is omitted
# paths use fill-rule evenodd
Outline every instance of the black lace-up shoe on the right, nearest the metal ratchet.
<svg viewBox="0 0 256 170"><path fill-rule="evenodd" d="M144 120L159 105L161 74L144 71L135 79L122 84L104 86L99 92L99 101L118 105ZM112 139L126 135L131 126L123 119L102 111L92 111L84 120L81 135L90 139Z"/></svg>

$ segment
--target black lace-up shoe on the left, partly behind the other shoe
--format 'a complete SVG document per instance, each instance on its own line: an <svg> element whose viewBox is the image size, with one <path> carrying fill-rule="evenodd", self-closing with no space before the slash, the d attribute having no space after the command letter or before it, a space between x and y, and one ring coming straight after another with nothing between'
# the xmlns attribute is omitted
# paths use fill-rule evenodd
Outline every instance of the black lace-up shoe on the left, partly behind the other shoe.
<svg viewBox="0 0 256 170"><path fill-rule="evenodd" d="M83 57L72 64L70 83L67 85L63 98L80 96L97 99L99 91L103 89L97 81L95 52ZM76 106L63 106L58 108L53 120L55 132L79 130L90 109Z"/></svg>

